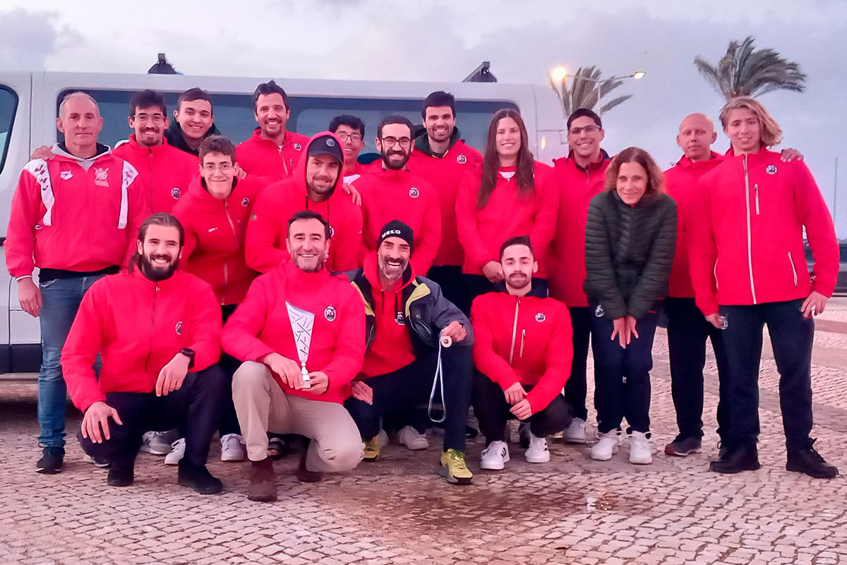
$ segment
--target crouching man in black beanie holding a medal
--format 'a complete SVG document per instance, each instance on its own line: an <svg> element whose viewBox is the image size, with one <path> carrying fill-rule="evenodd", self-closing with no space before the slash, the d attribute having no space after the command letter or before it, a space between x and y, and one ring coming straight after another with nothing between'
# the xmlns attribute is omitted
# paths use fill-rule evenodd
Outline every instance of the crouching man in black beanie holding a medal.
<svg viewBox="0 0 847 565"><path fill-rule="evenodd" d="M412 228L391 220L379 230L376 250L362 269L347 274L362 295L368 351L344 406L365 442L365 461L379 457L379 420L408 420L429 401L444 405L444 450L438 474L469 485L465 432L471 395L473 330L468 318L432 280L416 276L409 259ZM410 449L428 446L426 426L406 426L398 439Z"/></svg>

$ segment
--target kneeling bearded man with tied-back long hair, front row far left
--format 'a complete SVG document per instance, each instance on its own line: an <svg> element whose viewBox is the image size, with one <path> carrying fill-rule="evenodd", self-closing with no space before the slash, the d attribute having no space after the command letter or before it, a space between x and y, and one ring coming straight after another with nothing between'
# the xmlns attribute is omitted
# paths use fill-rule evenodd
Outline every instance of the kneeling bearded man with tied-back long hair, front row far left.
<svg viewBox="0 0 847 565"><path fill-rule="evenodd" d="M214 364L220 313L208 284L176 270L182 241L169 213L144 220L129 269L98 280L82 299L62 368L71 400L85 413L82 449L110 463L108 485L132 485L145 431L185 424L179 483L211 495L221 483L206 458L226 391ZM91 368L98 353L99 375Z"/></svg>

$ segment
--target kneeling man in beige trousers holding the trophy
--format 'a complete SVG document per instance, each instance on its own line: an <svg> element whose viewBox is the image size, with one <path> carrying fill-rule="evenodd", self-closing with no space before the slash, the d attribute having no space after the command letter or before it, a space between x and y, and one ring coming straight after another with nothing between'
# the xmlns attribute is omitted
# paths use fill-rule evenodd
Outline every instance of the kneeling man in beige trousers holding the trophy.
<svg viewBox="0 0 847 565"><path fill-rule="evenodd" d="M244 362L232 392L252 462L253 501L276 500L268 431L310 440L297 474L302 481L362 461L356 423L341 404L362 367L362 302L344 276L324 265L329 224L319 213L298 212L287 229L291 261L253 282L221 339L224 351Z"/></svg>

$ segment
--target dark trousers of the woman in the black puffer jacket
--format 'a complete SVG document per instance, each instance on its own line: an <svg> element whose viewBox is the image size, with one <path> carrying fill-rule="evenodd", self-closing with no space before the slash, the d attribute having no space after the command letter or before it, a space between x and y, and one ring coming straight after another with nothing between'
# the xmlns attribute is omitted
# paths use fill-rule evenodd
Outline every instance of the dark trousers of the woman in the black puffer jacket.
<svg viewBox="0 0 847 565"><path fill-rule="evenodd" d="M656 313L650 312L635 324L639 337L621 347L612 341L612 320L592 311L591 349L594 352L594 406L597 430L606 434L620 429L627 418L631 431L650 432L650 369L653 368L653 336Z"/></svg>

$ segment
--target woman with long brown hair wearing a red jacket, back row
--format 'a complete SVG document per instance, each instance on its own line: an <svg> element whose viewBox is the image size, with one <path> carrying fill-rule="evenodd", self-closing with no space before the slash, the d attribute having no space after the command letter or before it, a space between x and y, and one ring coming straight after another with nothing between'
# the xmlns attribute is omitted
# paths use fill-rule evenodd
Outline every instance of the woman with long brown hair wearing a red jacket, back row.
<svg viewBox="0 0 847 565"><path fill-rule="evenodd" d="M529 234L538 259L536 284L546 294L547 253L556 233L559 190L553 169L534 160L518 110L498 110L488 128L481 169L465 174L456 199L462 273L468 292L490 292L503 280L500 246Z"/></svg>

